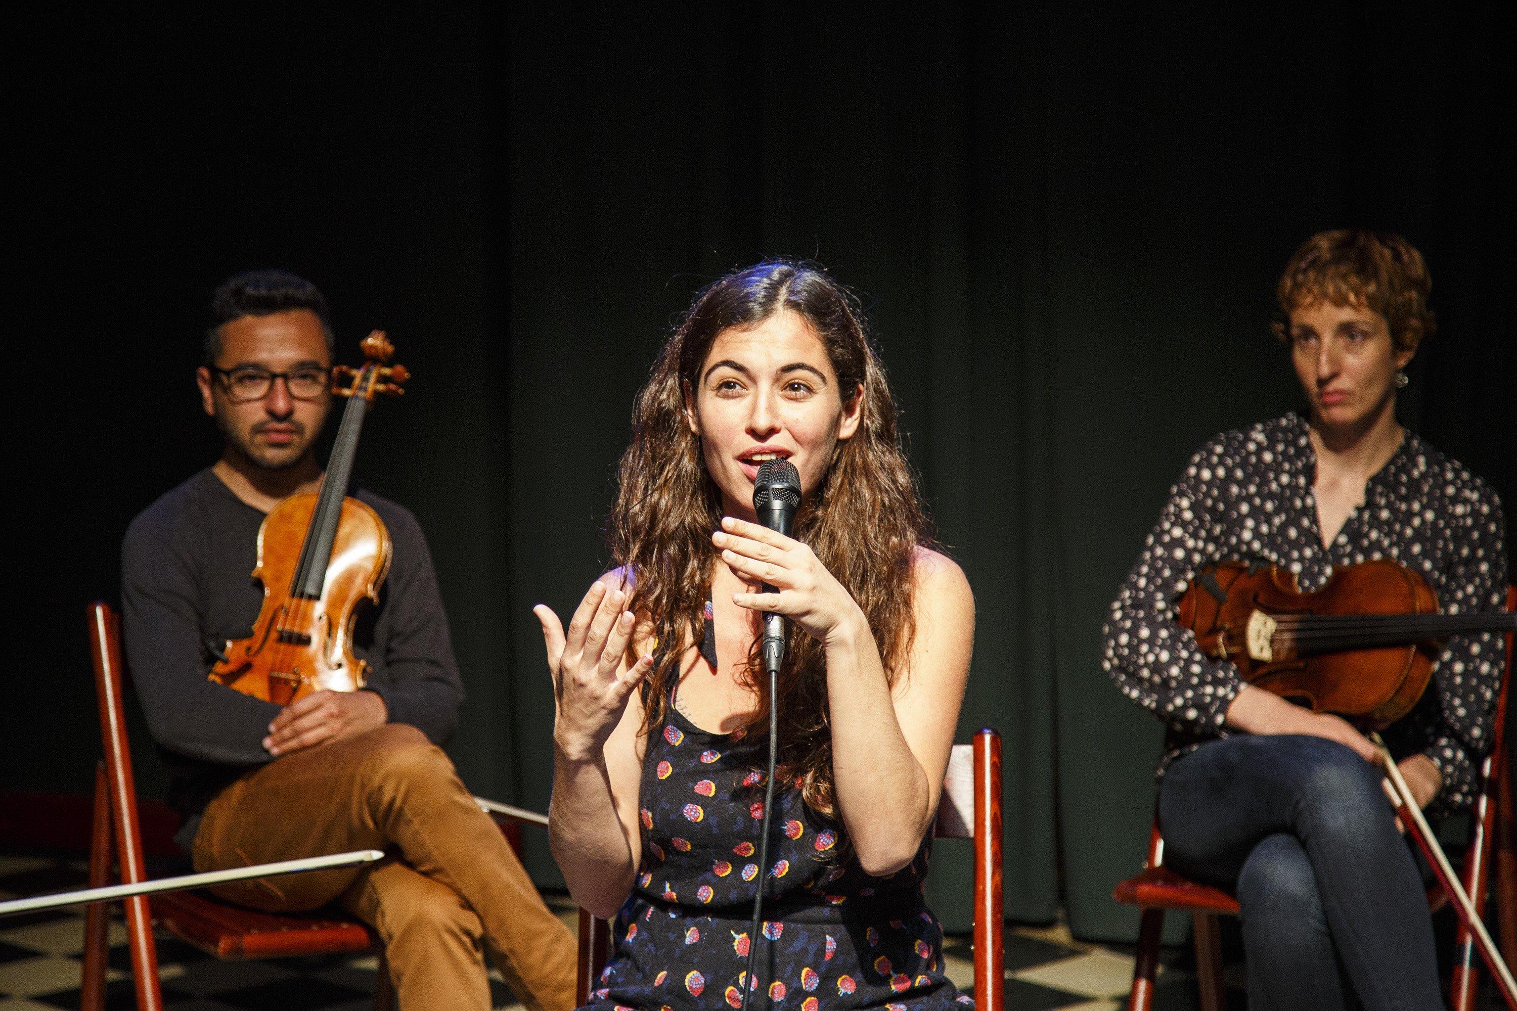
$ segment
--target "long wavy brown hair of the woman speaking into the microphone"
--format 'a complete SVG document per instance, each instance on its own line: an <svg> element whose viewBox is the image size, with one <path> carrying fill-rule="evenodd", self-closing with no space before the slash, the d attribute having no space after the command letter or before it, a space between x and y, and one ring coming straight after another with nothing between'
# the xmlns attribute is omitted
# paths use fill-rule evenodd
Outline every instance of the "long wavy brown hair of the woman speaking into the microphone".
<svg viewBox="0 0 1517 1011"><path fill-rule="evenodd" d="M934 547L912 468L897 434L897 406L859 300L821 268L766 261L705 286L658 352L633 409L616 506L607 527L613 561L633 574L633 611L658 649L643 685L643 734L666 718L680 659L704 634L702 609L718 562L711 532L722 496L686 423L684 383L699 387L716 336L758 326L775 312L806 318L827 349L843 400L863 396L853 438L840 441L822 484L801 505L793 537L804 541L859 602L884 662L901 676L915 634L912 558ZM768 717L768 679L755 641L746 684ZM821 643L790 632L780 693L780 782L795 781L807 805L836 817L827 664Z"/></svg>

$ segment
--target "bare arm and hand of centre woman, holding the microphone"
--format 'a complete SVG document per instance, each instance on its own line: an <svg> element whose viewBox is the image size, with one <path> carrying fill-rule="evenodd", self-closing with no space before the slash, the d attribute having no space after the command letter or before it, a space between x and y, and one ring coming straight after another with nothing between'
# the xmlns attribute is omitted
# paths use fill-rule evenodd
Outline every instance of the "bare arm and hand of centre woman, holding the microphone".
<svg viewBox="0 0 1517 1011"><path fill-rule="evenodd" d="M784 614L822 643L839 814L865 872L900 870L938 809L969 675L974 597L963 571L916 552L916 635L892 691L863 611L810 547L730 517L713 540L739 576L778 590L736 603Z"/></svg>

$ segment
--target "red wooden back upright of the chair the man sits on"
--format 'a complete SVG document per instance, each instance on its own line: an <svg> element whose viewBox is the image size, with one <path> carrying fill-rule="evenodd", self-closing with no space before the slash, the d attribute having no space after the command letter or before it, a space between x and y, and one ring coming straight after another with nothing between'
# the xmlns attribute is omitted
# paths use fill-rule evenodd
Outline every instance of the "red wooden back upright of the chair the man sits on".
<svg viewBox="0 0 1517 1011"><path fill-rule="evenodd" d="M100 706L100 743L105 749L105 785L115 834L115 853L121 862L121 884L147 881L143 855L143 829L137 819L137 781L132 776L132 749L126 740L126 712L121 708L121 621L109 605L99 600L86 609L90 659L96 675L96 702ZM97 805L99 809L99 805ZM147 899L126 899L127 931L152 937L153 920ZM132 979L138 1008L161 1008L158 990L158 952L153 944L132 944Z"/></svg>

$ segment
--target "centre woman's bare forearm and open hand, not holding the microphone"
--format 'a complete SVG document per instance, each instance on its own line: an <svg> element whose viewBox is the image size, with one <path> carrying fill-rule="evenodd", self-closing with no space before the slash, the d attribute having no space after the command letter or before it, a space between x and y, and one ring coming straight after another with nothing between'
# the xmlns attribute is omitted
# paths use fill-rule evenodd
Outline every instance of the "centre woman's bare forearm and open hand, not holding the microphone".
<svg viewBox="0 0 1517 1011"><path fill-rule="evenodd" d="M569 894L611 919L633 890L642 861L637 793L642 782L637 684L649 659L631 667L633 615L611 574L579 603L567 634L545 605L534 608L554 678L554 799L548 841Z"/></svg>

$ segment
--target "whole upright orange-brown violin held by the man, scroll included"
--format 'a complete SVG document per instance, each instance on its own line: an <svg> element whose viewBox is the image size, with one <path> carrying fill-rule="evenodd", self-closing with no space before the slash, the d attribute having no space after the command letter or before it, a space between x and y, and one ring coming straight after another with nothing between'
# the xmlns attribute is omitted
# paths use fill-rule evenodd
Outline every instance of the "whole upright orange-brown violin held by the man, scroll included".
<svg viewBox="0 0 1517 1011"><path fill-rule="evenodd" d="M314 691L358 691L367 678L367 662L352 653L353 620L361 600L379 603L393 543L379 514L344 491L364 414L378 394L405 393L410 373L387 364L394 346L382 330L360 347L363 368L332 367L332 394L347 397L347 406L322 488L290 496L264 517L253 568L264 603L253 634L228 640L208 675L281 706Z"/></svg>

